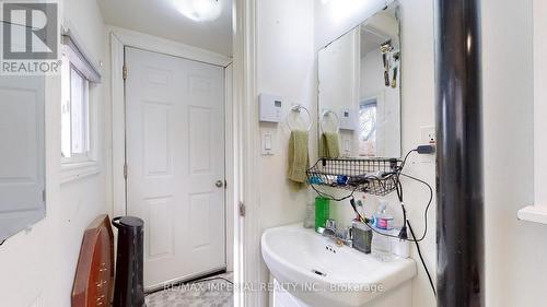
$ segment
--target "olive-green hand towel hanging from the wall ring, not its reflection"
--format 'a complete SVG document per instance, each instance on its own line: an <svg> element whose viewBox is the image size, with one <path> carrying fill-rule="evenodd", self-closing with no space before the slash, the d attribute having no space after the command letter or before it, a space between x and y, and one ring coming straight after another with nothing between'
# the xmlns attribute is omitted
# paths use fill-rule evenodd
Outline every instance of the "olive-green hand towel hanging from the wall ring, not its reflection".
<svg viewBox="0 0 547 307"><path fill-rule="evenodd" d="M289 140L289 179L305 184L306 170L310 168L310 155L307 152L307 131L292 131Z"/></svg>

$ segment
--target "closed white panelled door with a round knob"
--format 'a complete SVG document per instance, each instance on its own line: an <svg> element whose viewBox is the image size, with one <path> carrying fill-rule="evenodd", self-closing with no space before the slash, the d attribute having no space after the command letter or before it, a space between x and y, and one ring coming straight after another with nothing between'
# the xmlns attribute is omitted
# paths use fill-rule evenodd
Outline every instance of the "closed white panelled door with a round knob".
<svg viewBox="0 0 547 307"><path fill-rule="evenodd" d="M144 220L144 286L225 268L224 72L126 48L127 214Z"/></svg>

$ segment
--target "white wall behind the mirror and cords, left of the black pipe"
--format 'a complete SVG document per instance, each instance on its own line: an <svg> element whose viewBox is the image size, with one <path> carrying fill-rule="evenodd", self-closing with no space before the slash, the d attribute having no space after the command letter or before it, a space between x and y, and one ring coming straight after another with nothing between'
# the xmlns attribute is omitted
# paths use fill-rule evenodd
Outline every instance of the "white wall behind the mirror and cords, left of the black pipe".
<svg viewBox="0 0 547 307"><path fill-rule="evenodd" d="M342 33L357 26L371 16L373 9L383 8L382 3L365 2L360 10L347 12L347 17L336 15L336 10L317 0L315 10L315 48L336 39ZM434 46L433 46L433 1L432 0L400 0L401 28L401 129L403 153L406 154L421 142L421 127L434 125ZM372 8L372 10L371 10ZM405 173L435 185L435 164L432 156L411 156ZM429 191L423 186L404 179L405 203L409 219L417 235L423 231L423 210L429 198ZM400 215L400 209L395 196L389 196L391 210ZM369 197L365 201L368 212L376 206L376 199ZM429 215L429 232L427 239L421 243L421 249L430 272L435 274L435 201L433 200ZM353 212L347 202L334 205L334 216L348 224L353 219ZM400 220L400 216L399 216ZM418 262L416 250L412 257L417 260L418 278L412 282L412 306L435 306L435 299L429 286L427 275Z"/></svg>

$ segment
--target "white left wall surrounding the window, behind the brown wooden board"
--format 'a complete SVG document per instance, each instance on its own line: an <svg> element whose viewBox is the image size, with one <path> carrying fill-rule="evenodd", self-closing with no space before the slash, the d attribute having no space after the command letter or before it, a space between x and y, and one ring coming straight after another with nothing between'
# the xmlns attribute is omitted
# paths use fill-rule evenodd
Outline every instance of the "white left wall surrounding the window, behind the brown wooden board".
<svg viewBox="0 0 547 307"><path fill-rule="evenodd" d="M104 24L94 0L63 1L63 19L95 59L104 58ZM102 105L104 90L96 88ZM103 107L100 109L104 109ZM103 116L100 116L103 118ZM103 142L103 122L101 140ZM0 297L2 306L70 306L70 294L83 231L109 208L105 193L105 169L100 175L59 185L60 78L46 83L47 217L8 239L0 247ZM105 162L104 147L100 150Z"/></svg>

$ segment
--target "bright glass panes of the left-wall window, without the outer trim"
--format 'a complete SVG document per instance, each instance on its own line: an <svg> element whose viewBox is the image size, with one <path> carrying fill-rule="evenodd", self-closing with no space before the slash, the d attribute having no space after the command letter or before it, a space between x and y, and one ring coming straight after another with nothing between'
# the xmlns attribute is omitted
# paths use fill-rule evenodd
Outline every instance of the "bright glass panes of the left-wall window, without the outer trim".
<svg viewBox="0 0 547 307"><path fill-rule="evenodd" d="M65 61L68 63L68 60ZM61 155L63 163L91 160L90 145L90 81L74 67L62 74Z"/></svg>

